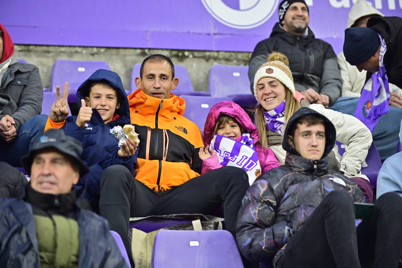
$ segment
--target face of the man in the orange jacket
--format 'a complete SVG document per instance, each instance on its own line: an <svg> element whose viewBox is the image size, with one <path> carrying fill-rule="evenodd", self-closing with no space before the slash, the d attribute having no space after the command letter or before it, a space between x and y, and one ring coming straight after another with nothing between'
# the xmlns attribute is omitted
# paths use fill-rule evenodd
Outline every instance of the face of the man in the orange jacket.
<svg viewBox="0 0 402 268"><path fill-rule="evenodd" d="M147 61L142 77L135 78L135 84L149 96L167 99L177 87L178 78L172 77L172 69L167 61Z"/></svg>

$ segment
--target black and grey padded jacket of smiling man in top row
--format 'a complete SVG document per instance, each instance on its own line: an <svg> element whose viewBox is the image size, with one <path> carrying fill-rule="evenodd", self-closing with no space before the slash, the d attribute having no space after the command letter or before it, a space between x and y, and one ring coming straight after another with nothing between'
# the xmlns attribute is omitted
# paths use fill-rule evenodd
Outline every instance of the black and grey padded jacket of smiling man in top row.
<svg viewBox="0 0 402 268"><path fill-rule="evenodd" d="M267 54L273 51L288 57L297 91L312 88L320 94L326 94L330 106L340 97L342 79L331 45L316 39L310 28L307 35L293 35L285 31L279 23L275 24L268 39L256 45L248 63L248 78L253 95L255 73L267 62Z"/></svg>

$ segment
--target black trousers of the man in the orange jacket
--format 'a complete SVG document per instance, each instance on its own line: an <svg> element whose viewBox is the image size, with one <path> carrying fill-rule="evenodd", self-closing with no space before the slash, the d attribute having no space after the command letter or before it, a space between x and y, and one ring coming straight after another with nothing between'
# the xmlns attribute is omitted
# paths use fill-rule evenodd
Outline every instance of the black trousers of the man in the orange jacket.
<svg viewBox="0 0 402 268"><path fill-rule="evenodd" d="M100 180L99 213L119 233L131 258L129 217L178 213L208 214L223 203L226 229L236 232L236 218L248 189L246 172L236 167L212 170L162 194L133 178L124 166L107 168Z"/></svg>

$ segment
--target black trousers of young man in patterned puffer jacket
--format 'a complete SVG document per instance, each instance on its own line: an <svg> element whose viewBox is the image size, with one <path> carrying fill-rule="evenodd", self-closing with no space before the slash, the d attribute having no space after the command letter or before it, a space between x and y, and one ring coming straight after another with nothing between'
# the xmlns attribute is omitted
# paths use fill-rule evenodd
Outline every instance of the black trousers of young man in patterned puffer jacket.
<svg viewBox="0 0 402 268"><path fill-rule="evenodd" d="M371 219L357 228L354 210L347 192L328 194L289 239L277 267L397 267L402 254L402 198L393 192L381 195Z"/></svg>

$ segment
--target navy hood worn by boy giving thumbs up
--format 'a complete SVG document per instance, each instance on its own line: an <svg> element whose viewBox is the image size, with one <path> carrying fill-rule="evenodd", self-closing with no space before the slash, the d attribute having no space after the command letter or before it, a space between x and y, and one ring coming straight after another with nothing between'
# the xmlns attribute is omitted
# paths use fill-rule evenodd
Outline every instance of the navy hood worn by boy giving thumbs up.
<svg viewBox="0 0 402 268"><path fill-rule="evenodd" d="M95 71L77 90L77 105L78 110L81 108L81 99L85 99L88 96L88 90L92 83L106 81L111 84L111 86L117 90L119 95L120 108L116 109L117 113L121 118L127 119L127 122L131 121L130 110L126 92L123 88L123 83L121 82L120 76L112 71L99 69ZM93 109L92 109L93 110Z"/></svg>

